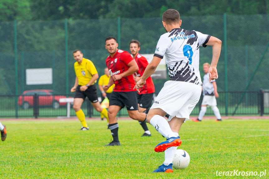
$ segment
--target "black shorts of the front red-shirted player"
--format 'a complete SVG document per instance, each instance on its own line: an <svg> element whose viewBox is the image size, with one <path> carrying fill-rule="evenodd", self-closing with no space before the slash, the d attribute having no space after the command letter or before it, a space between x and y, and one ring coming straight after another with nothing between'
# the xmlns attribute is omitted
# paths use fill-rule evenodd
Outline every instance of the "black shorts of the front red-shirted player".
<svg viewBox="0 0 269 179"><path fill-rule="evenodd" d="M138 110L137 106L137 91L130 92L112 92L109 99L109 106L126 106L128 111Z"/></svg>

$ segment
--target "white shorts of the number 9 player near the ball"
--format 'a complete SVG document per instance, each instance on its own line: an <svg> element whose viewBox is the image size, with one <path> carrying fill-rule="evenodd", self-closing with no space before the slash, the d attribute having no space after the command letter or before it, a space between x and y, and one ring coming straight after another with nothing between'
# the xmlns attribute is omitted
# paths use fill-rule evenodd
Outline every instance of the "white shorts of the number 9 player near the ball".
<svg viewBox="0 0 269 179"><path fill-rule="evenodd" d="M190 119L190 113L198 103L202 87L190 82L167 81L156 97L151 109L161 108L170 115Z"/></svg>

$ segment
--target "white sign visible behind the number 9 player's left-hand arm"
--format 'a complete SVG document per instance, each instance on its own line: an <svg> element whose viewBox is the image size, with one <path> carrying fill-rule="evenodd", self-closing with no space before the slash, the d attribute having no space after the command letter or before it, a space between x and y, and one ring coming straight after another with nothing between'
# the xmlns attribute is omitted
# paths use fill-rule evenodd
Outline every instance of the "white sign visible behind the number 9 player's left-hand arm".
<svg viewBox="0 0 269 179"><path fill-rule="evenodd" d="M154 54L141 54L141 55L147 59L148 63L150 63L151 60L153 59ZM163 59L161 59L160 64L157 66L155 73L151 75L151 78L152 79L166 79L166 75L167 75L166 68L167 68L167 65L166 65L166 59L164 56Z"/></svg>

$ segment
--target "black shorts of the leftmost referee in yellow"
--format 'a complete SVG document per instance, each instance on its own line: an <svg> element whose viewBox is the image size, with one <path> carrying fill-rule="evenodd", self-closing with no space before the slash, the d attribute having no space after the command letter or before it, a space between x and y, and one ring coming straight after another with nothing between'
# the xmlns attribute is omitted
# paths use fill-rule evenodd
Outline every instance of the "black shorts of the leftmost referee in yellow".
<svg viewBox="0 0 269 179"><path fill-rule="evenodd" d="M85 100L86 97L89 98L89 100L92 103L95 103L98 101L98 96L97 96L97 89L96 89L96 85L91 85L88 87L88 89L86 89L86 91L80 91L79 90L79 85L76 88L76 92L75 92L75 97L74 98L83 98L83 100Z"/></svg>

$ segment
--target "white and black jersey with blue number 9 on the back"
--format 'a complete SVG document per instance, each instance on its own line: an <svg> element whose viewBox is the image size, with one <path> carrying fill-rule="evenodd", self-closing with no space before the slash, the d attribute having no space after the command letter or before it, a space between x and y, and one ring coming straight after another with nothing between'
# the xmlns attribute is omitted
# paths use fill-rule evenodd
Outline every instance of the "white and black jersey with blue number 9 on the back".
<svg viewBox="0 0 269 179"><path fill-rule="evenodd" d="M199 46L206 47L210 35L176 28L161 35L154 56L166 57L172 81L203 85L199 72Z"/></svg>

